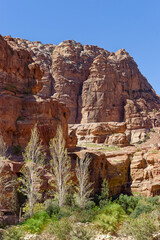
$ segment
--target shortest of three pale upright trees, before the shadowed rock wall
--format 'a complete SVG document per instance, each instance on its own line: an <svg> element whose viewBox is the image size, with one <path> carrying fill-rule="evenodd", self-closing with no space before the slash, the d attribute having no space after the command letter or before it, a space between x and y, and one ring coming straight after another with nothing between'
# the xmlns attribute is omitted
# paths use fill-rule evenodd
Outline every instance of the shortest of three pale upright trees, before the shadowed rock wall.
<svg viewBox="0 0 160 240"><path fill-rule="evenodd" d="M76 176L78 180L77 203L80 208L84 208L90 200L90 195L93 192L93 183L89 182L89 165L91 158L86 155L84 158L77 159Z"/></svg>

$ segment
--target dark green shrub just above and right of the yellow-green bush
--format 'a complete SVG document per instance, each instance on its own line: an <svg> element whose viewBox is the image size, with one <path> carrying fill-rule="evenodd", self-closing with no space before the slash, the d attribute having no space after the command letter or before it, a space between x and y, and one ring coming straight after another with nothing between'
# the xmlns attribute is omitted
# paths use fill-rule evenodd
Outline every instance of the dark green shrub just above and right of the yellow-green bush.
<svg viewBox="0 0 160 240"><path fill-rule="evenodd" d="M117 203L123 208L123 210L130 214L136 208L140 198L137 196L128 196L121 194L117 200Z"/></svg>

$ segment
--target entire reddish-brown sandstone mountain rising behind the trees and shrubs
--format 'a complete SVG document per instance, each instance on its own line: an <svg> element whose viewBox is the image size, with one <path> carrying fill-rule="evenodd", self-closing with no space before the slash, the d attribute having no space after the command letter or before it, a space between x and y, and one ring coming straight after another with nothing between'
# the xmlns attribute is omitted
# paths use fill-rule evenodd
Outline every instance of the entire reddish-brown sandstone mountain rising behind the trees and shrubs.
<svg viewBox="0 0 160 240"><path fill-rule="evenodd" d="M73 162L86 152L92 155L96 191L106 177L111 195L132 190L159 194L160 147L154 153L151 146L127 147L160 126L159 110L159 96L124 49L113 53L73 40L53 45L0 36L4 140L24 148L37 123L48 145L61 124ZM80 151L73 150L77 141L83 144ZM102 145L125 148L108 153ZM18 173L11 167L16 163L7 164L8 171Z"/></svg>

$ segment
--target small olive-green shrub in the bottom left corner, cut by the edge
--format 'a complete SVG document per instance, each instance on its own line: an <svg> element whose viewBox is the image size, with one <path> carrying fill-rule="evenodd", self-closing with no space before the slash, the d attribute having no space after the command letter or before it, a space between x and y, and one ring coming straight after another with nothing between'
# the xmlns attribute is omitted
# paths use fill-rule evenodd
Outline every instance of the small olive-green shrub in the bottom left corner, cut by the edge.
<svg viewBox="0 0 160 240"><path fill-rule="evenodd" d="M7 231L4 232L1 239L4 240L21 240L22 234L20 233L19 229L16 227L12 227L7 229Z"/></svg>

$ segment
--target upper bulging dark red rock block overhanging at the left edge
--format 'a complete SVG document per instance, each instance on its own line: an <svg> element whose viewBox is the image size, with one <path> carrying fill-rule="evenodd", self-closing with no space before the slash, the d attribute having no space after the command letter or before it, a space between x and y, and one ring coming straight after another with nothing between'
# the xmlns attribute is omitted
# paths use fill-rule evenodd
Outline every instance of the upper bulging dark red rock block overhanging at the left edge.
<svg viewBox="0 0 160 240"><path fill-rule="evenodd" d="M12 38L0 36L0 87L11 92L29 93L35 86L42 88L42 71L30 53L19 48Z"/></svg>

